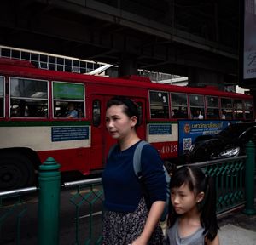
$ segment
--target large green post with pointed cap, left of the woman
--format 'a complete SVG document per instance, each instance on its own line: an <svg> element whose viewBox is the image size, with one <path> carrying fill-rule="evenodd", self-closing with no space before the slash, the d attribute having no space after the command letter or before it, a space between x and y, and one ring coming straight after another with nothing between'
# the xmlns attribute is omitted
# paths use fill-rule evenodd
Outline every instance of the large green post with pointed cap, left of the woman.
<svg viewBox="0 0 256 245"><path fill-rule="evenodd" d="M39 167L38 244L59 244L60 164L48 157Z"/></svg>

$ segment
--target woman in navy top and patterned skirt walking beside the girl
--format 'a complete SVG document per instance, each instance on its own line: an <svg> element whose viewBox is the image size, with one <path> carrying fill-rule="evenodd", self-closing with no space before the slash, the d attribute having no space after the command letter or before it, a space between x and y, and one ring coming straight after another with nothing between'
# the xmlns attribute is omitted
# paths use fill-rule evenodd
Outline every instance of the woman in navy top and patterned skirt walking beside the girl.
<svg viewBox="0 0 256 245"><path fill-rule="evenodd" d="M141 155L143 180L134 173L133 155L141 141L136 132L138 116L137 105L132 100L118 96L108 101L106 126L118 144L110 151L102 174L103 245L158 245L163 242L159 223L166 203L163 162L153 146L144 145Z"/></svg>

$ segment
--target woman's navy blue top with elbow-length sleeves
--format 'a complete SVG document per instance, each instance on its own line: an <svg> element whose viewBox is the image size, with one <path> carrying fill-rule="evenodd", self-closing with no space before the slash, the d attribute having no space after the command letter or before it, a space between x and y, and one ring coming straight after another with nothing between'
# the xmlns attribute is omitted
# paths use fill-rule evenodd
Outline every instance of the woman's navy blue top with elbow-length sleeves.
<svg viewBox="0 0 256 245"><path fill-rule="evenodd" d="M142 186L133 169L133 155L138 142L125 151L115 147L102 174L104 208L116 212L133 212L143 197ZM141 155L143 183L150 203L166 202L166 177L163 162L152 145L144 145Z"/></svg>

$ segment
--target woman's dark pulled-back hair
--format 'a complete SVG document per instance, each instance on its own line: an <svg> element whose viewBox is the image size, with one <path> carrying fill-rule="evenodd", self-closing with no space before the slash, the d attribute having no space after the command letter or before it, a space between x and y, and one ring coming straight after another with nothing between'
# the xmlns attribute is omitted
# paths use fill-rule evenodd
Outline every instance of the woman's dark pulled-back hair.
<svg viewBox="0 0 256 245"><path fill-rule="evenodd" d="M124 113L128 116L128 117L137 117L137 123L135 125L135 128L137 128L138 125L138 120L139 120L139 113L138 113L138 109L137 109L137 104L125 97L125 96L115 96L112 99L108 100L107 102L107 109L110 108L112 105L125 105L124 106Z"/></svg>

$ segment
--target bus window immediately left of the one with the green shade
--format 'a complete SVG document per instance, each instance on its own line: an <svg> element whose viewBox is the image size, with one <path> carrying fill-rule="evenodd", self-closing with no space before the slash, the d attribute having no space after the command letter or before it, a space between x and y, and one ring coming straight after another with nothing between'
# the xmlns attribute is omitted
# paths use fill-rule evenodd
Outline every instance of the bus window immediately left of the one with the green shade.
<svg viewBox="0 0 256 245"><path fill-rule="evenodd" d="M48 82L11 77L10 117L48 117Z"/></svg>

